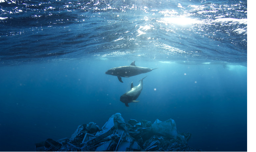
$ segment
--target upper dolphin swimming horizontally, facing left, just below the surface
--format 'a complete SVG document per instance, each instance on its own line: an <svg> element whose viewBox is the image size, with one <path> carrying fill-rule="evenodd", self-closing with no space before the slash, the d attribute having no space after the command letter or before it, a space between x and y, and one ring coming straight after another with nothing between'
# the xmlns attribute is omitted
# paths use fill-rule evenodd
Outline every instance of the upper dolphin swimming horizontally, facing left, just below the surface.
<svg viewBox="0 0 256 152"><path fill-rule="evenodd" d="M136 76L142 73L150 72L152 70L154 69L138 67L135 65L135 61L133 61L129 66L122 66L109 69L107 72L105 72L105 74L117 76L118 80L123 83L121 77Z"/></svg>

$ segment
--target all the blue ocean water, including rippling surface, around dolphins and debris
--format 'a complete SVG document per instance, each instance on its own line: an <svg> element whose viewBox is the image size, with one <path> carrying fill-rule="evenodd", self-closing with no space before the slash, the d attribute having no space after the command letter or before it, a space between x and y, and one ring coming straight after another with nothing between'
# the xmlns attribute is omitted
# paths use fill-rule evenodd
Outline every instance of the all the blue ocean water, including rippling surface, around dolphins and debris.
<svg viewBox="0 0 256 152"><path fill-rule="evenodd" d="M0 151L80 124L174 119L205 151L247 151L247 1L0 0ZM132 61L158 68L106 75ZM143 80L137 100L120 96Z"/></svg>

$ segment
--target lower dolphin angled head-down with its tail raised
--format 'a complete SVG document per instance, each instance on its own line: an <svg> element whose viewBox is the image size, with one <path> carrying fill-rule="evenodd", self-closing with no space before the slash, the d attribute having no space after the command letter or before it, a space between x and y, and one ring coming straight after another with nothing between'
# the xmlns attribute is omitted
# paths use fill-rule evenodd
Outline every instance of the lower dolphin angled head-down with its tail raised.
<svg viewBox="0 0 256 152"><path fill-rule="evenodd" d="M147 76L145 76L147 77ZM144 77L144 78L145 78ZM125 103L125 105L128 107L128 103L131 103L131 102L139 102L139 101L136 101L136 99L139 97L141 91L142 91L142 88L143 88L143 79L142 78L140 80L140 84L137 85L137 86L133 86L133 82L131 82L131 90L129 90L128 92L126 92L125 94L123 94L121 97L120 97L120 101L122 101L123 103Z"/></svg>

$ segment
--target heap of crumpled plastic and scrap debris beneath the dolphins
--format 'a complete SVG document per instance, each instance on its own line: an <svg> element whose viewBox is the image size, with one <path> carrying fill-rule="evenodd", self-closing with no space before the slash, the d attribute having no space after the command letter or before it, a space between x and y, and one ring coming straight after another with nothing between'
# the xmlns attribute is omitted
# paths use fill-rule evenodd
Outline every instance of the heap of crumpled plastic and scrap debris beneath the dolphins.
<svg viewBox="0 0 256 152"><path fill-rule="evenodd" d="M112 115L100 128L96 123L79 125L70 139L47 139L35 151L202 151L187 145L191 134L178 133L173 119L154 123Z"/></svg>

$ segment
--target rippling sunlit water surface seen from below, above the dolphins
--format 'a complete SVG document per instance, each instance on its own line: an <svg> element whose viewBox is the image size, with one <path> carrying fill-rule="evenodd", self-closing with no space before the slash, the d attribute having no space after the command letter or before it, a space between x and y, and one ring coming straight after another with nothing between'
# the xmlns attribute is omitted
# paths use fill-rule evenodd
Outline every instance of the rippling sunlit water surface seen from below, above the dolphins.
<svg viewBox="0 0 256 152"><path fill-rule="evenodd" d="M3 65L88 57L247 63L247 1L0 4Z"/></svg>

